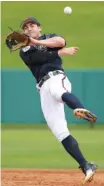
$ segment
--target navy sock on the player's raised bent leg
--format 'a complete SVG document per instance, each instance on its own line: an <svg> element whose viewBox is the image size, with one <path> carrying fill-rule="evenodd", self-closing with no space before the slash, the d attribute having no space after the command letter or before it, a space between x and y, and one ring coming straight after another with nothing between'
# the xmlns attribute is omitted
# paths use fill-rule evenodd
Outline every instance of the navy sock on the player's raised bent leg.
<svg viewBox="0 0 104 186"><path fill-rule="evenodd" d="M71 108L84 108L84 106L80 103L79 99L72 93L65 92L62 95L62 100Z"/></svg>

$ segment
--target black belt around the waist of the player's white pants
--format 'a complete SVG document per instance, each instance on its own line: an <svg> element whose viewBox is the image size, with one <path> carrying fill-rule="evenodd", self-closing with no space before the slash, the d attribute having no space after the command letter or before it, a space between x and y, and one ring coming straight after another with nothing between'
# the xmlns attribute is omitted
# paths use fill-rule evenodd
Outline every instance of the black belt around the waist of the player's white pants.
<svg viewBox="0 0 104 186"><path fill-rule="evenodd" d="M53 71L53 72L49 72L46 76L42 77L42 79L38 83L38 86L41 87L46 80L48 80L49 78L51 78L51 75L52 76L55 76L55 75L58 75L58 74L64 74L64 72L58 71L58 70Z"/></svg>

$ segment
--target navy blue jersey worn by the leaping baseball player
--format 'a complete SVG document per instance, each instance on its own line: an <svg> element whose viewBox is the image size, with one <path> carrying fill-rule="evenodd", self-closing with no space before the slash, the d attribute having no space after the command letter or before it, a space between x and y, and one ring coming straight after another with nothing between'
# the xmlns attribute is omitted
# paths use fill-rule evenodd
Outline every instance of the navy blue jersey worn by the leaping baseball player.
<svg viewBox="0 0 104 186"><path fill-rule="evenodd" d="M54 36L58 36L56 34L44 34L39 37L39 40L44 40L48 38L52 38ZM37 80L37 83L41 80L43 76L45 76L49 71L55 70L63 70L62 68L62 60L56 55L54 58L49 57L44 58L42 54L45 55L47 52L58 51L61 48L49 48L46 46L27 46L20 49L20 57L24 61L24 63L29 67L32 74ZM41 60L39 58L41 57Z"/></svg>

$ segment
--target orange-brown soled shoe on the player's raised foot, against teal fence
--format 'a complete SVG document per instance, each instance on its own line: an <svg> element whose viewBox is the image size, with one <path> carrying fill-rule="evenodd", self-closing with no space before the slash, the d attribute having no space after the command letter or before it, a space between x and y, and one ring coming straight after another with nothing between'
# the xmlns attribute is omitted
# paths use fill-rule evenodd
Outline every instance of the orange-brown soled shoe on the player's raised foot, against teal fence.
<svg viewBox="0 0 104 186"><path fill-rule="evenodd" d="M95 114L83 108L74 109L73 113L77 118L83 118L91 123L94 123L97 120L97 116Z"/></svg>

